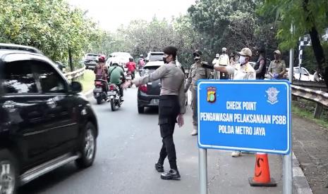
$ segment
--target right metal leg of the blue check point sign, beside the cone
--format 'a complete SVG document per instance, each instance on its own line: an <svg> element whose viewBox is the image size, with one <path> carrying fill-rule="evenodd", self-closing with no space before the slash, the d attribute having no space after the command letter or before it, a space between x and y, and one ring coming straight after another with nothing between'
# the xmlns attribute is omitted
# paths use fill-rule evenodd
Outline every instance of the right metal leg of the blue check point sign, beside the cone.
<svg viewBox="0 0 328 194"><path fill-rule="evenodd" d="M293 193L293 168L292 168L292 157L291 152L288 155L284 155L283 158L283 185L282 190L284 194Z"/></svg>

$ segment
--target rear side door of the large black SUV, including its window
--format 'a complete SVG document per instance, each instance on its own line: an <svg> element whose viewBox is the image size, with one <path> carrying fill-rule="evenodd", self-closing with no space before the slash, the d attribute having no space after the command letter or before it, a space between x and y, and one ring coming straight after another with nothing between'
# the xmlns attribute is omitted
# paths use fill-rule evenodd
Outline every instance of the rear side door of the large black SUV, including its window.
<svg viewBox="0 0 328 194"><path fill-rule="evenodd" d="M28 60L3 63L1 87L4 95L0 106L6 115L4 120L10 141L22 154L20 162L34 164L47 155L47 128L45 125L45 101L39 96L32 65Z"/></svg>

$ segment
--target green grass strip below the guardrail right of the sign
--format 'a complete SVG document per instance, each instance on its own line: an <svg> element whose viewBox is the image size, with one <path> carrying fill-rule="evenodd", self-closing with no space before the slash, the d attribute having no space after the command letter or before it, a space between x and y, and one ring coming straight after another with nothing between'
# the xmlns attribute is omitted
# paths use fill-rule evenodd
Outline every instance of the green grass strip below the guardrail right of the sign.
<svg viewBox="0 0 328 194"><path fill-rule="evenodd" d="M315 119L313 117L315 108L315 103L305 102L305 100L293 101L291 105L291 112L293 115L297 115L298 117L303 117L305 119L310 119L313 122L320 124L322 127L328 129L328 120L327 120L327 109L323 110L322 117L320 119Z"/></svg>

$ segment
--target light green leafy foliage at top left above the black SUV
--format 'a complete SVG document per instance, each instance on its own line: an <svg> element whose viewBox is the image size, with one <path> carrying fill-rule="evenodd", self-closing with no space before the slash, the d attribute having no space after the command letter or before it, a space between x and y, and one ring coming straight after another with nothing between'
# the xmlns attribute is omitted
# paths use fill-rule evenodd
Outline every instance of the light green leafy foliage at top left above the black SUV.
<svg viewBox="0 0 328 194"><path fill-rule="evenodd" d="M99 36L95 22L65 0L2 0L0 26L0 42L35 46L64 63L68 48L78 60Z"/></svg>

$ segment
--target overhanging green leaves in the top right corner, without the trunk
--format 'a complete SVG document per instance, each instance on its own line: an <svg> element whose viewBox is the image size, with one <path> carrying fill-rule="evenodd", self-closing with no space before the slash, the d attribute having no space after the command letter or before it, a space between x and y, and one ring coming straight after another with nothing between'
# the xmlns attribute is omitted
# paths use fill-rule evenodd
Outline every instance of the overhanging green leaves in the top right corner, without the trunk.
<svg viewBox="0 0 328 194"><path fill-rule="evenodd" d="M306 1L308 6L305 6ZM320 34L328 27L327 0L265 0L258 10L262 15L277 13L277 38L283 50L295 47L298 38L310 32L312 27ZM295 26L293 34L290 31L292 23Z"/></svg>

